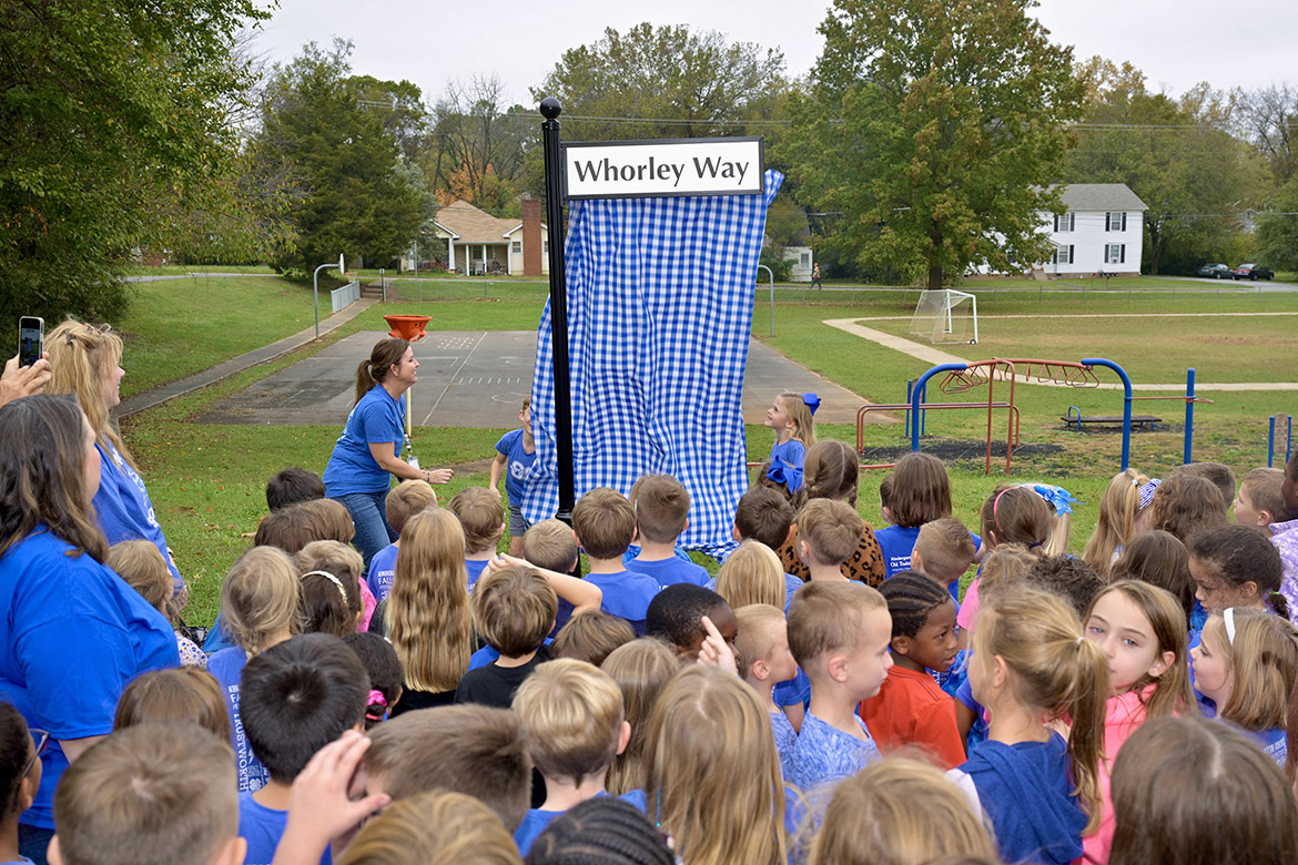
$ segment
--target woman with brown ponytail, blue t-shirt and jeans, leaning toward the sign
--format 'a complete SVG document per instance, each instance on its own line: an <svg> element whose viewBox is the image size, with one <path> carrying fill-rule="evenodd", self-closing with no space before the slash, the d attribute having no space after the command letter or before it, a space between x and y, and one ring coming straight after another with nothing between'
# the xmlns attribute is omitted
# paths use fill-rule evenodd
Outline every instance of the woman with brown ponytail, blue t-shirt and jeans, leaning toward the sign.
<svg viewBox="0 0 1298 865"><path fill-rule="evenodd" d="M324 494L341 502L356 523L353 543L370 558L397 539L384 516L392 476L445 484L449 468L415 468L401 459L405 392L418 380L419 362L405 340L380 340L356 370L356 403L324 469Z"/></svg>

